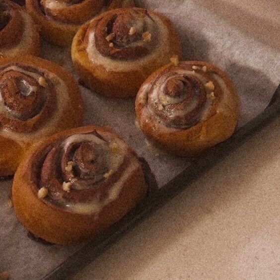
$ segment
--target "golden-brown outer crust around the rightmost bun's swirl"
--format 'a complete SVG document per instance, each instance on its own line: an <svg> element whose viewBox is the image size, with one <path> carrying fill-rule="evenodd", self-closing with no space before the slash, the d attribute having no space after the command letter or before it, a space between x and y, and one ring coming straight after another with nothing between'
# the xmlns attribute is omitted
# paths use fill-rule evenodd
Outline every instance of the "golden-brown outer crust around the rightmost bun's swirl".
<svg viewBox="0 0 280 280"><path fill-rule="evenodd" d="M173 66L169 64L155 71L143 83L136 99L136 115L141 130L145 133L148 139L156 145L165 149L167 152L180 156L195 156L205 149L228 139L233 134L239 117L239 98L230 78L216 66L207 62L197 61L184 62L184 64L185 66L181 65L181 69L186 69L186 67L189 66L191 67L189 70L201 72L201 74L209 77L208 81L214 81L212 73L215 73L222 78L230 92L230 97L226 97L223 108L219 109L222 90L218 88L218 84L214 82L217 91L220 91L216 96L217 104L213 102L213 104L215 104L215 110L210 113L209 117L204 121L198 121L193 126L191 125L184 129L180 129L180 125L177 128L165 127L164 121L162 120L160 121L161 125L159 125L158 120L151 117L152 115L150 112L145 111L146 101L143 101L143 92L147 86L154 84L162 73L171 71L170 69L172 69ZM200 70L194 70L192 69L192 66L197 66ZM208 73L204 73L202 70L204 66ZM215 90L213 91L215 92ZM148 91L147 94L149 95L150 91Z"/></svg>

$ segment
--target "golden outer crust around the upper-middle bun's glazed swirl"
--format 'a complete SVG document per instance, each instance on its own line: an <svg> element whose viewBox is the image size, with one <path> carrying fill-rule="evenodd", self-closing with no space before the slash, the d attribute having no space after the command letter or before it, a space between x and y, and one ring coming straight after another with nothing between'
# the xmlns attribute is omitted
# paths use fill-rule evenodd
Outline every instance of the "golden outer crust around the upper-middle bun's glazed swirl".
<svg viewBox="0 0 280 280"><path fill-rule="evenodd" d="M133 8L136 11L142 11L140 8ZM120 14L128 12L125 9L115 9L114 11L107 12L107 16L112 16L114 14ZM78 32L76 33L71 49L72 61L81 80L92 90L110 96L110 97L129 97L135 96L137 91L140 88L141 83L146 77L154 70L168 63L170 57L174 55L181 56L182 49L178 34L171 21L164 15L148 11L151 15L157 16L167 28L168 36L167 41L164 42L166 48L169 50L166 51L164 57L160 53L150 57L150 59L145 60L139 67L134 67L134 69L126 70L126 66L122 70L112 70L110 69L110 62L106 65L96 63L93 60L90 60L87 54L87 34L90 31L88 30L91 26L95 26L105 14L94 19L91 23L83 25ZM162 38L159 38L161 40ZM152 52L152 51L151 51ZM130 61L134 63L134 60ZM135 60L135 65L138 61Z"/></svg>

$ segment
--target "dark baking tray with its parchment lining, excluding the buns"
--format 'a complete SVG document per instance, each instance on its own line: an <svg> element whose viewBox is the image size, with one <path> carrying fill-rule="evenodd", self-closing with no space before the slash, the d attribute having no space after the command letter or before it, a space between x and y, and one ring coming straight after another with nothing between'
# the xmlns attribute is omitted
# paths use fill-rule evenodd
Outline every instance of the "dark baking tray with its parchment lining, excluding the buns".
<svg viewBox="0 0 280 280"><path fill-rule="evenodd" d="M115 101L103 98L102 96L96 94L92 95L89 90L80 87L82 91L84 91L83 98L84 101L86 101L86 116L84 124L111 124L111 127L114 128L115 131L118 132L120 129L122 137L125 138L130 145L137 149L138 153L140 152L140 156L145 157L150 164L152 163L153 171L156 171L157 173L157 179L161 188L155 196L146 199L137 209L131 211L121 221L110 227L96 239L84 245L72 247L45 247L45 245L38 245L33 241L28 241L26 237L26 230L19 223L14 222L11 226L12 229L9 234L11 237L8 235L4 236L13 238L13 241L9 243L9 246L5 246L5 244L3 244L3 242L6 242L5 238L2 238L2 236L0 238L0 271L10 269L12 271L13 279L39 279L42 278L42 276L44 276L42 279L65 279L67 276L74 274L82 266L92 261L107 246L120 238L126 231L135 226L151 211L158 209L166 201L170 200L172 197L180 193L180 191L187 188L188 185L200 177L203 172L207 171L220 159L233 152L244 141L248 140L248 138L257 130L264 127L266 123L279 116L280 89L278 88L273 95L273 92L279 83L279 72L277 72L277 70L279 70L279 64L277 64L277 60L280 56L278 52L271 49L269 45L264 45L258 40L248 36L248 34L245 36L245 34L238 32L236 28L228 26L225 21L216 17L215 14L208 13L207 9L201 8L196 1L162 1L160 2L160 6L157 4L159 0L141 0L140 2L141 4L148 3L151 5L149 6L151 8L158 7L157 10L167 14L172 19L183 41L185 54L184 60L208 60L228 72L237 86L237 90L242 92L242 104L245 104L246 106L246 111L243 106L243 118L239 123L238 130L229 140L210 149L196 160L188 161L178 157L170 157L171 159L169 161L169 165L174 165L174 168L177 168L176 173L169 171L165 174L165 178L163 178L164 176L161 176L161 174L164 174L165 170L160 166L160 164L162 161L164 161L164 164L166 163L165 158L151 157L151 153L147 151L145 145L143 144L143 135L135 129L133 102L131 102L131 100ZM186 10L190 13L188 15L190 18L189 21L183 21L185 20L185 17L180 17L181 10L178 12L178 8L177 14L174 15L176 12L175 2L184 3ZM204 28L203 23L209 21L212 28ZM192 22L196 22L197 25L193 25ZM232 44L232 38L233 40L238 41L239 45L243 47L242 51L239 49L236 50L235 44ZM70 56L65 55L65 49L48 45L46 42L43 42L42 45L46 47L42 50L43 57L61 64L68 70L72 70L72 66L70 65ZM244 48L244 46L246 46L247 49ZM77 79L77 76L75 76L75 78ZM273 98L270 105L265 109L265 107L269 104L269 100L272 95ZM246 99L246 97L248 98ZM254 107L254 101L257 100L260 101L262 106ZM91 116L92 111L98 109L92 107L94 104L100 104L103 108L108 108L108 114L112 114L113 117L111 118L114 118L114 120L110 122L110 119L108 118L105 122L100 110L95 116L96 118L93 118ZM114 111L118 112L120 118L118 118L118 114L115 113L112 108ZM255 117L254 119L252 119L252 115ZM118 122L122 120L126 120L127 123L120 126ZM134 131L131 133L129 130L132 126L134 126ZM139 147L140 145L142 147ZM179 169L178 166L180 166L181 169ZM160 176L158 176L159 174ZM2 182L0 182L0 184L2 185ZM0 203L5 205L7 204L6 201L10 186L10 181L3 182L3 187L5 188L6 193L4 194L4 198L2 193L0 194ZM5 217L5 211L9 211L9 214L14 219L13 211L7 210L6 206L4 207L4 210L1 208L2 213L0 212L0 228L1 222L8 220L8 218ZM22 239L23 241L16 242L17 239ZM28 246L32 248L30 249ZM7 256L2 254L1 248L5 254L8 253L10 255ZM35 251L37 255L32 255L32 252ZM17 255L12 256L11 254L13 253ZM47 255L49 259L57 259L52 260L52 265L49 265L48 268L46 266L43 270L42 266L44 265L44 261L46 261L46 259L40 258L42 257L40 255L44 254L45 256ZM39 257L40 260L36 260L36 262L34 261L33 263L35 256ZM15 262L16 265L12 263L16 258L24 260L23 267L18 268L18 262ZM40 267L38 267L38 265L40 265ZM38 270L37 273L36 269ZM27 277L27 274L21 275L24 270L33 270L34 273L30 273Z"/></svg>

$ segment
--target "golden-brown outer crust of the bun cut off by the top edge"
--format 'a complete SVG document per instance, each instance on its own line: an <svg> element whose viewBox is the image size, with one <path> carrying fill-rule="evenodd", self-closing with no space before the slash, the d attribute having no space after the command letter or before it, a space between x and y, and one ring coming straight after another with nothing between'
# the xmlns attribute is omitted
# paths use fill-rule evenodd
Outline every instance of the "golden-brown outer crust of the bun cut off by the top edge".
<svg viewBox="0 0 280 280"><path fill-rule="evenodd" d="M80 25L103 11L102 2L101 0L85 0L66 9L54 9L53 17L52 15L47 17L42 12L38 0L26 0L26 8L40 26L41 34L46 40L61 46L69 46ZM122 1L113 0L105 9L121 7L121 4ZM134 5L133 0L130 5ZM59 15L59 18L56 18L55 14Z"/></svg>

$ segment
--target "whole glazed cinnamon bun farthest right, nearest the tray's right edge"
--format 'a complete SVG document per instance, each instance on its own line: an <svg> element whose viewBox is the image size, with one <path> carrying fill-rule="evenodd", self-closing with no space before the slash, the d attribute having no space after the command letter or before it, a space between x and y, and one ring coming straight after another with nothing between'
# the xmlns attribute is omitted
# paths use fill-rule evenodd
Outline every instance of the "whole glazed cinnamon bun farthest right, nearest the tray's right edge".
<svg viewBox="0 0 280 280"><path fill-rule="evenodd" d="M233 134L239 99L229 77L216 66L175 60L142 84L136 115L156 145L193 156Z"/></svg>

